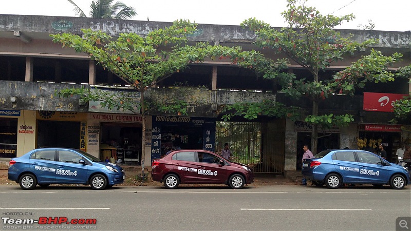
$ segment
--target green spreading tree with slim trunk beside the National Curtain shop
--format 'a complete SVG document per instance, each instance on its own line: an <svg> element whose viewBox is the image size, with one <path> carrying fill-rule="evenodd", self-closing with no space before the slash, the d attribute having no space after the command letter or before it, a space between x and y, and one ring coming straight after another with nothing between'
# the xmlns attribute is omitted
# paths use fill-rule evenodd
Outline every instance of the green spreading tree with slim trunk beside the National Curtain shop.
<svg viewBox="0 0 411 231"><path fill-rule="evenodd" d="M185 113L184 102L181 99L170 99L169 104L149 103L145 100L147 89L157 82L169 77L175 72L186 68L190 63L201 62L207 54L207 46L197 43L193 46L185 45L186 35L192 33L196 25L190 21L175 21L172 26L153 30L145 37L136 33L122 33L114 40L113 37L101 32L83 30L83 36L63 33L50 35L53 42L61 43L76 52L90 55L99 65L116 74L139 92L138 99L133 95L116 95L111 91L71 88L59 93L62 97L80 95L84 102L101 101L101 105L109 109L126 109L142 115L142 137L145 137L145 115L148 110L157 107L160 111ZM160 51L159 47L169 46L167 51ZM168 106L167 106L168 105ZM142 139L142 157L145 140Z"/></svg>

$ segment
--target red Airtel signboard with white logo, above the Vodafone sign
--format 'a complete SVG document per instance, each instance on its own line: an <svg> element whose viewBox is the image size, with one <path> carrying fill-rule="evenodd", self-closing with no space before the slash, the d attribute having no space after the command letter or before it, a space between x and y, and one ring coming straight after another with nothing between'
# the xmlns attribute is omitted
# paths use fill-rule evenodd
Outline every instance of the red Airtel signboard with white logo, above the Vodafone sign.
<svg viewBox="0 0 411 231"><path fill-rule="evenodd" d="M388 94L364 92L363 110L365 111L393 111L393 104L407 94Z"/></svg>

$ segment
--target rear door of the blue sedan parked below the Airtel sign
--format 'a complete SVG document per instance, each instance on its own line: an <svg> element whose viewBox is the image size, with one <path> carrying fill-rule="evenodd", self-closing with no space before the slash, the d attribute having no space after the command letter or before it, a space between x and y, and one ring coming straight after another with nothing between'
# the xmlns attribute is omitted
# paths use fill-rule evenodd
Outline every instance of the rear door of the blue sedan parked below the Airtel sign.
<svg viewBox="0 0 411 231"><path fill-rule="evenodd" d="M360 166L353 151L337 151L332 155L335 170L343 176L344 182L360 181Z"/></svg>

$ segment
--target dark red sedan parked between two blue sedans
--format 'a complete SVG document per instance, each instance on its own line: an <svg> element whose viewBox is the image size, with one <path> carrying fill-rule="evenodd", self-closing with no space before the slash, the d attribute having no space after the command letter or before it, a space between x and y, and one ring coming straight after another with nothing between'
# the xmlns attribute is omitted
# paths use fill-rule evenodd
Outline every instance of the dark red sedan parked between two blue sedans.
<svg viewBox="0 0 411 231"><path fill-rule="evenodd" d="M181 184L227 184L239 189L254 182L254 172L207 150L176 150L153 161L152 177L175 189Z"/></svg>

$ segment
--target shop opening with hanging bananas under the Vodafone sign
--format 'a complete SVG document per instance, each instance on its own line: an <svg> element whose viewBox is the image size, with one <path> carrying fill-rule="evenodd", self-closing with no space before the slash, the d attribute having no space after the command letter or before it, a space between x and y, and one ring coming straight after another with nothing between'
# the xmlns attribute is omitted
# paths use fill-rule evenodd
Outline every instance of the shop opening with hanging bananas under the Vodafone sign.
<svg viewBox="0 0 411 231"><path fill-rule="evenodd" d="M398 161L396 152L401 144L400 132L360 131L359 138L367 139L367 146L363 147L363 150L378 154L378 145L381 143L387 152L387 161L393 163Z"/></svg>

